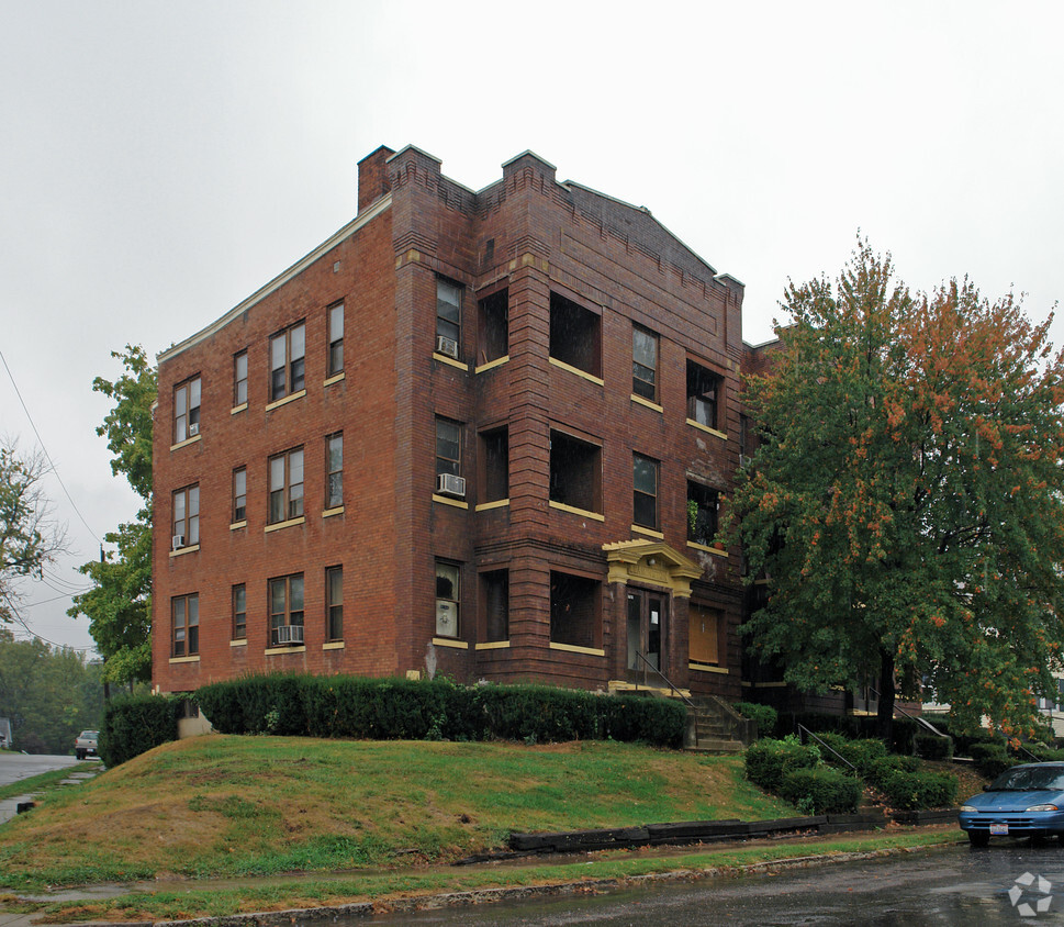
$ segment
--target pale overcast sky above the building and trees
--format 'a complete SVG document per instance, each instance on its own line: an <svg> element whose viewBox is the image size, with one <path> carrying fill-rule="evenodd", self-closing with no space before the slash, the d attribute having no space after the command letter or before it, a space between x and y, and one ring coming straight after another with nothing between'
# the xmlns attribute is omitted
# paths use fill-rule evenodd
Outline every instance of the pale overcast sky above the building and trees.
<svg viewBox="0 0 1064 927"><path fill-rule="evenodd" d="M746 283L752 343L787 279L833 277L858 230L917 289L966 273L1040 321L1064 290L1059 3L0 0L0 435L33 450L32 417L70 496L48 478L71 552L20 608L51 641L91 646L65 615L76 567L137 507L92 378L348 222L378 145L417 145L474 190L530 148L647 206Z"/></svg>

